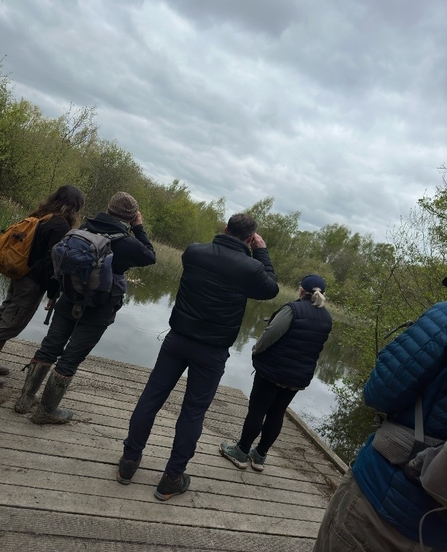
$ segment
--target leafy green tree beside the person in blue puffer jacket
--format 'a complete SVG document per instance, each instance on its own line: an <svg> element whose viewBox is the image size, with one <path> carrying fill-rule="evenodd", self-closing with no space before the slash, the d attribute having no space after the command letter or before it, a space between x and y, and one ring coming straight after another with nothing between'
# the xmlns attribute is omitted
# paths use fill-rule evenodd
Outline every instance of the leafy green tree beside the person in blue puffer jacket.
<svg viewBox="0 0 447 552"><path fill-rule="evenodd" d="M351 370L343 387L336 389L337 409L319 428L345 460L372 431L373 413L363 404L362 389L379 350L445 299L446 197L446 190L439 188L433 198L421 200L392 232L392 245L369 242L360 248L361 270L353 273L344 302L350 323L343 325L341 337L350 351Z"/></svg>

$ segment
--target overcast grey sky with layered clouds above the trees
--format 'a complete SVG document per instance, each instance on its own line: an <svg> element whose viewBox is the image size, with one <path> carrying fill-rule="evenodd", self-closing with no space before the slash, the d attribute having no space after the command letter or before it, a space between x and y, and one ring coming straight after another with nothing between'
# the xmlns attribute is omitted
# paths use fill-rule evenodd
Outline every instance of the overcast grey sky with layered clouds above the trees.
<svg viewBox="0 0 447 552"><path fill-rule="evenodd" d="M445 0L0 0L2 71L149 176L378 241L442 183Z"/></svg>

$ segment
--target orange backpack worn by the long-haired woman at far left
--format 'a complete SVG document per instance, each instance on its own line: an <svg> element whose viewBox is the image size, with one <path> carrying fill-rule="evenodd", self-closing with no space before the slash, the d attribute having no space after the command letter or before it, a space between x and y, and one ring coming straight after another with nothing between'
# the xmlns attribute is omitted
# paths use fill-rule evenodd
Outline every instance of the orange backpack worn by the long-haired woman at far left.
<svg viewBox="0 0 447 552"><path fill-rule="evenodd" d="M7 228L0 234L0 273L11 280L19 280L31 270L28 258L34 237L40 222L50 219L44 217L27 217Z"/></svg>

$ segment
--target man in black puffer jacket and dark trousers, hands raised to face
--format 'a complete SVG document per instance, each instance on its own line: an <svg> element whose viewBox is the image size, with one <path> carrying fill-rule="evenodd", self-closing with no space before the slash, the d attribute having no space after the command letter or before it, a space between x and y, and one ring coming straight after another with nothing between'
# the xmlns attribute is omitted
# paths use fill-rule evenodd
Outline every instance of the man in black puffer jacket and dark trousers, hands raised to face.
<svg viewBox="0 0 447 552"><path fill-rule="evenodd" d="M189 487L186 466L224 373L228 349L238 335L247 298L272 299L279 291L266 244L256 233L256 222L245 214L233 215L224 233L211 243L187 247L182 262L171 330L132 414L117 474L119 483L130 483L155 416L188 368L171 457L155 492L159 500Z"/></svg>

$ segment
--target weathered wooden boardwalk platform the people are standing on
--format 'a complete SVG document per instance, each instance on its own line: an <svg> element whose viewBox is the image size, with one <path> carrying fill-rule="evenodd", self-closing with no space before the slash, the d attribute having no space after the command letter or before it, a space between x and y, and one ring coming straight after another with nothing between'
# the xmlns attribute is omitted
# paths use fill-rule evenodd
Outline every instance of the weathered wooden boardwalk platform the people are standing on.
<svg viewBox="0 0 447 552"><path fill-rule="evenodd" d="M167 502L154 490L169 457L185 382L155 422L140 469L128 486L115 480L130 414L149 370L89 357L63 405L65 426L36 426L13 404L21 368L36 344L12 340L0 355L11 368L0 389L0 550L310 551L344 464L286 418L263 473L238 470L218 453L238 437L247 398L220 387L207 413L190 490Z"/></svg>

